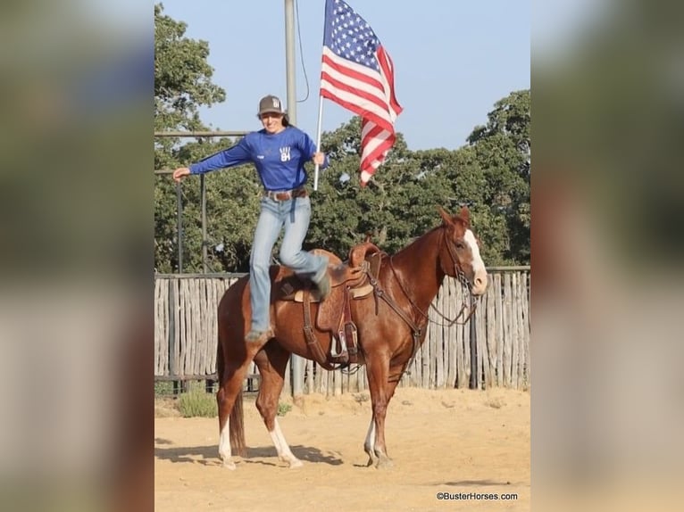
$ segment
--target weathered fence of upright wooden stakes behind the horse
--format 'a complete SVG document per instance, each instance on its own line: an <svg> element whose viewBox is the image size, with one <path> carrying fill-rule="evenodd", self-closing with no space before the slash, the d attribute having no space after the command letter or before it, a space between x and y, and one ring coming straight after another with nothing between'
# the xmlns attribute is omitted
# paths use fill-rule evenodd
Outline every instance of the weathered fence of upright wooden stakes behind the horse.
<svg viewBox="0 0 684 512"><path fill-rule="evenodd" d="M474 320L447 326L430 309L425 342L400 386L468 387L471 379L471 330L477 346L479 387L530 386L529 268L490 268L492 283L478 303ZM222 294L238 275L157 275L154 279L154 376L158 380L212 379L216 372L216 311ZM454 318L463 303L463 287L446 278L433 302ZM368 389L365 367L326 371L302 360L305 393L337 395ZM357 369L357 371L354 371ZM253 367L251 375L256 374ZM291 372L284 392L292 391Z"/></svg>

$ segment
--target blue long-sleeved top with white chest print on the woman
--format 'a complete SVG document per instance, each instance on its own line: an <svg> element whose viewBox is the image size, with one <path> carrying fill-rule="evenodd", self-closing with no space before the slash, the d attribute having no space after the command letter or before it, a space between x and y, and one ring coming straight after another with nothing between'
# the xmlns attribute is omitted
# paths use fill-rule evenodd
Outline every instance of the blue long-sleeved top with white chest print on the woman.
<svg viewBox="0 0 684 512"><path fill-rule="evenodd" d="M304 162L316 153L311 137L288 126L277 134L265 129L248 133L237 145L190 165L190 174L252 162L266 190L290 190L306 183ZM328 155L321 169L328 167Z"/></svg>

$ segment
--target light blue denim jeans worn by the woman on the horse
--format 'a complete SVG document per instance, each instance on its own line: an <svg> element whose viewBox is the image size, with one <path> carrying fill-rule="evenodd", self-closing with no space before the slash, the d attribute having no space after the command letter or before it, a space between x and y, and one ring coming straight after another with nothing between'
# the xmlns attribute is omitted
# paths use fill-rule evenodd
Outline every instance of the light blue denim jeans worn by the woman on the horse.
<svg viewBox="0 0 684 512"><path fill-rule="evenodd" d="M325 276L328 258L302 251L304 236L311 219L311 200L296 197L288 201L274 201L263 197L261 213L254 231L254 243L249 259L250 303L252 305L252 329L266 331L270 326L271 305L271 252L285 227L279 260L292 268L298 276L308 277L318 283Z"/></svg>

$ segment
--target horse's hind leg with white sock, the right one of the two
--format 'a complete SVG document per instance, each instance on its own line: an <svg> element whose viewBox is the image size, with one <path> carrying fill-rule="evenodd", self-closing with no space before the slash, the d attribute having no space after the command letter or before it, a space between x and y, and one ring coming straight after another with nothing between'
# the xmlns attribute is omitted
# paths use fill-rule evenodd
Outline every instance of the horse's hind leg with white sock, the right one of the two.
<svg viewBox="0 0 684 512"><path fill-rule="evenodd" d="M302 461L296 458L290 451L288 442L280 430L278 418L278 399L282 391L285 368L288 366L289 352L284 350L278 343L271 341L263 351L254 357L254 363L259 367L261 384L259 394L256 397L256 409L263 417L266 430L271 434L273 445L278 451L278 458L287 462L289 467L300 467Z"/></svg>

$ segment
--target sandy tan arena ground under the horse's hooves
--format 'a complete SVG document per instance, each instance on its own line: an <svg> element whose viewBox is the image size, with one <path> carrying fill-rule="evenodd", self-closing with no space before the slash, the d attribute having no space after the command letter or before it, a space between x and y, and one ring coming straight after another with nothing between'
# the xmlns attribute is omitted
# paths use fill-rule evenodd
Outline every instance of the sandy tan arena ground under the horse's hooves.
<svg viewBox="0 0 684 512"><path fill-rule="evenodd" d="M279 461L253 401L245 403L247 458L221 467L218 419L157 417L155 509L530 510L530 393L398 388L386 440L394 467L366 467L367 393L305 395L279 417L304 467ZM499 500L438 500L438 492ZM505 493L517 500L502 500Z"/></svg>

